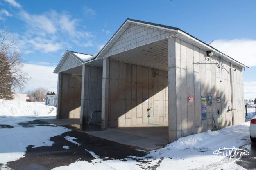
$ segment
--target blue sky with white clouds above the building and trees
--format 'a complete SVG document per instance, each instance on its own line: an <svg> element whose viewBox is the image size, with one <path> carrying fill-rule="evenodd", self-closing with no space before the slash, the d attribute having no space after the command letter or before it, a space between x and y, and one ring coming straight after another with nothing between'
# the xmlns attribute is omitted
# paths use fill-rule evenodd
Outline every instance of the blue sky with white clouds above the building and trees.
<svg viewBox="0 0 256 170"><path fill-rule="evenodd" d="M255 0L1 0L0 19L16 38L32 77L25 90L56 91L52 71L67 49L94 54L132 18L178 27L206 43L214 40L212 46L249 66L245 98L255 98L255 7Z"/></svg>

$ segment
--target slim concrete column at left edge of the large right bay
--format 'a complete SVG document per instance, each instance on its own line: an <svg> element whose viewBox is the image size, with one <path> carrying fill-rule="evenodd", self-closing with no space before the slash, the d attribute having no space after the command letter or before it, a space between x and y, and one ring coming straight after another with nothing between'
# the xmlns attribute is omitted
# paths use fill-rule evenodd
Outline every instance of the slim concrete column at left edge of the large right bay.
<svg viewBox="0 0 256 170"><path fill-rule="evenodd" d="M109 59L103 59L102 68L102 106L101 106L101 128L108 128L109 117Z"/></svg>

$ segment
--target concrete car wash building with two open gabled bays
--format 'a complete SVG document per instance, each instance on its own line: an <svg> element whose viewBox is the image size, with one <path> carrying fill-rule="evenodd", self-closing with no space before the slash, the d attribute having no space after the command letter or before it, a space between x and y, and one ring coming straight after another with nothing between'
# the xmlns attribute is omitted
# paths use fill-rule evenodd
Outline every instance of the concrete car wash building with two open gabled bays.
<svg viewBox="0 0 256 170"><path fill-rule="evenodd" d="M63 55L54 70L57 118L88 123L93 115L102 128L165 124L169 141L237 125L245 68L179 28L127 19L97 54Z"/></svg>

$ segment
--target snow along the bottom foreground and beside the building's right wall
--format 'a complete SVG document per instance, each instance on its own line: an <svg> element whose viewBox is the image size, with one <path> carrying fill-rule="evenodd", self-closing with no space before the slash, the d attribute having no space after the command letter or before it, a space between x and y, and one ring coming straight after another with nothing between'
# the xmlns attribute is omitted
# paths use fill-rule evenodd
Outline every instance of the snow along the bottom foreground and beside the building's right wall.
<svg viewBox="0 0 256 170"><path fill-rule="evenodd" d="M93 160L93 163L77 161L69 166L61 166L54 170L82 170L85 167L90 170L130 170L154 167L160 163L157 170L170 169L243 169L234 162L237 159L230 159L214 155L213 152L219 148L237 148L249 144L249 122L238 126L229 126L217 131L181 137L166 145L162 149L153 150L145 157L129 157L126 160L102 161L100 158ZM94 153L91 153L93 155ZM96 158L96 157L95 157ZM138 163L133 159L143 159L147 163Z"/></svg>

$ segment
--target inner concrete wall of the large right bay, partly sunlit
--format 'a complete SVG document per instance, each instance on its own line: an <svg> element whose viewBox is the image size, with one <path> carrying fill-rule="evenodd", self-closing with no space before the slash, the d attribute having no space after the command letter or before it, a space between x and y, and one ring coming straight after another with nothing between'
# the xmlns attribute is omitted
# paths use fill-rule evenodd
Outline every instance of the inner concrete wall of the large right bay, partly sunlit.
<svg viewBox="0 0 256 170"><path fill-rule="evenodd" d="M165 96L167 72L156 70L154 77L152 68L110 60L110 67L112 66L115 68L110 68L110 127L159 124L160 121L168 120L168 110L165 109L168 106L168 97ZM118 79L115 75L112 79L114 70L119 75ZM148 117L147 109L150 107Z"/></svg>

